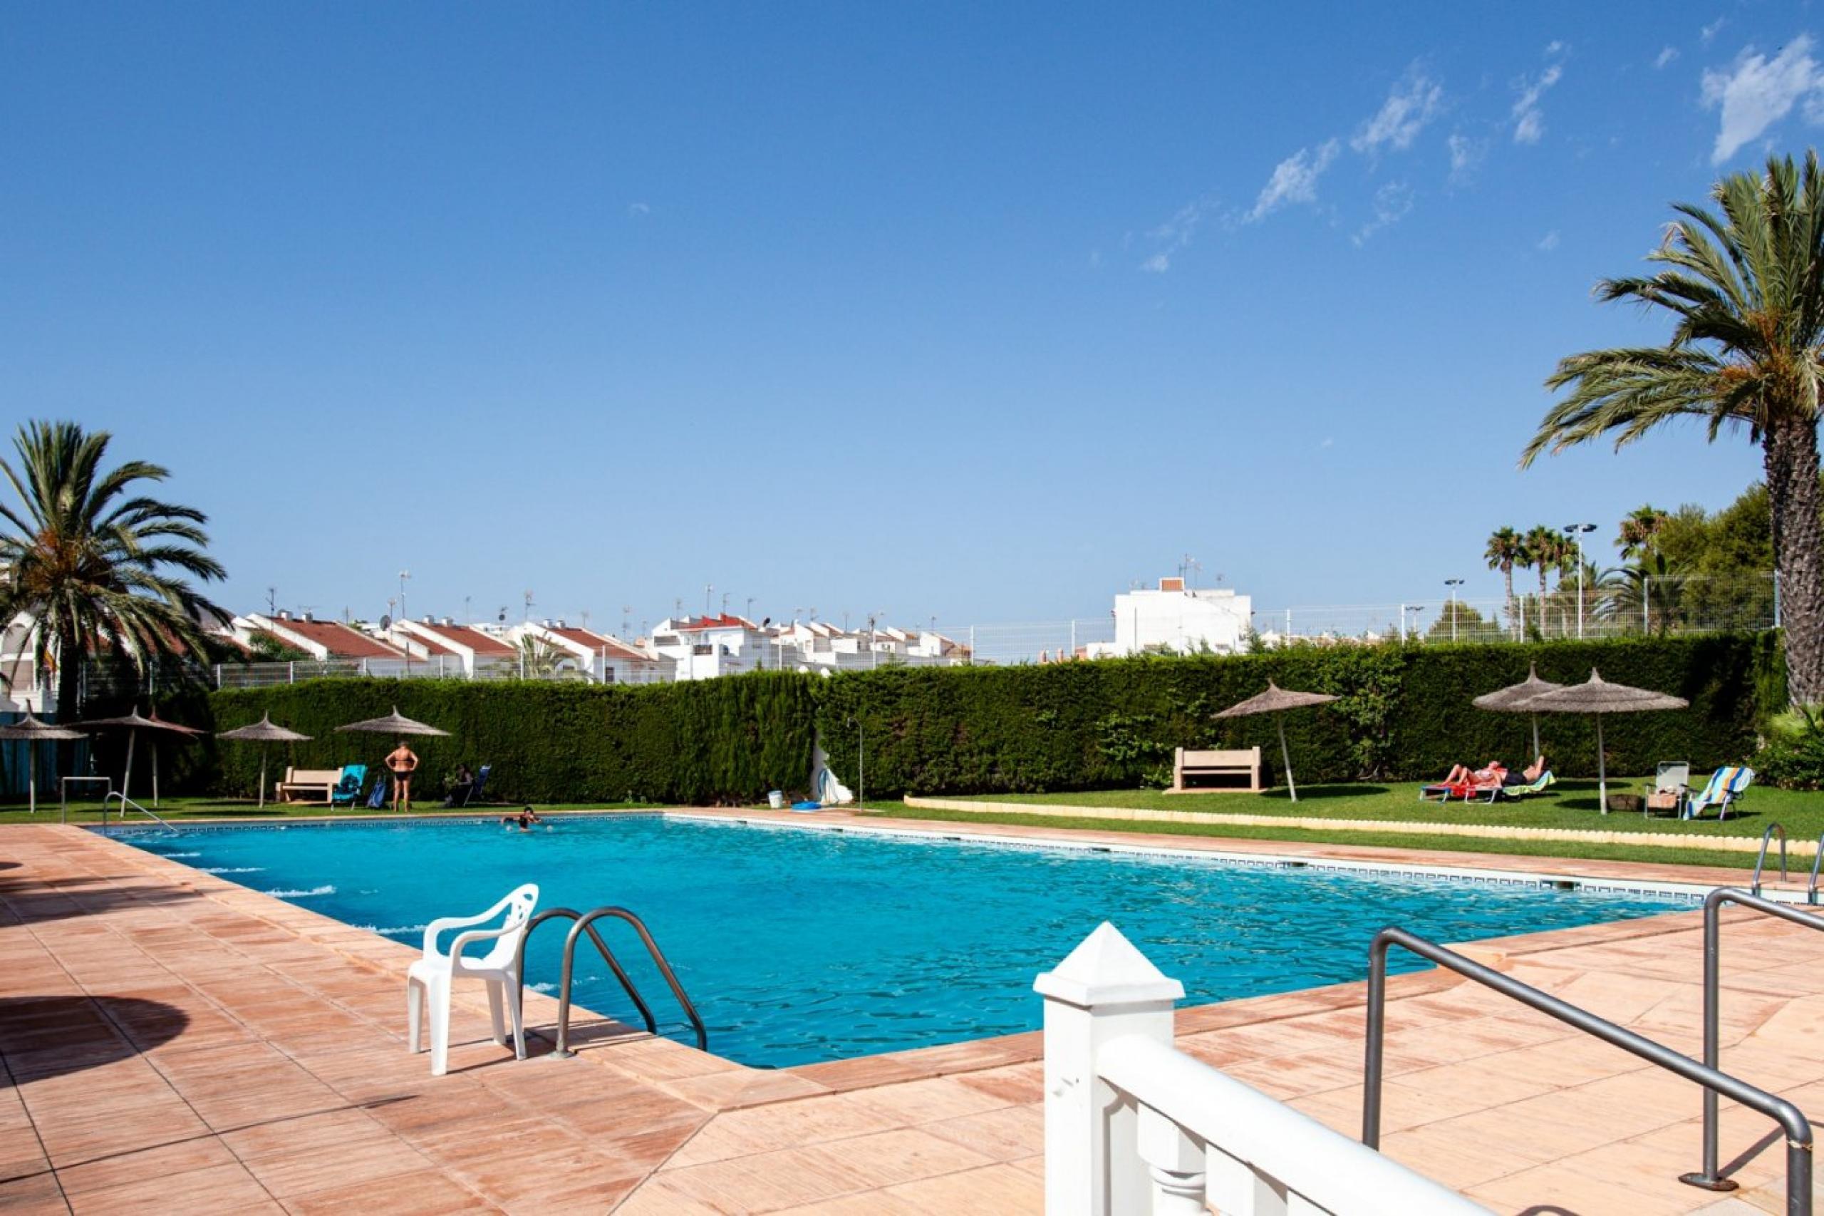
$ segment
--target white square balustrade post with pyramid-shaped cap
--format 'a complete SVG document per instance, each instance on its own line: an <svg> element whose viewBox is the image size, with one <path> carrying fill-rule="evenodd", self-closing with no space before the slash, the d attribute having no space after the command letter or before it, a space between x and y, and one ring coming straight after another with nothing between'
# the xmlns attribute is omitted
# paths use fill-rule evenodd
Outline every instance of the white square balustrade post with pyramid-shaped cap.
<svg viewBox="0 0 1824 1216"><path fill-rule="evenodd" d="M1096 1075L1114 1039L1171 1043L1184 984L1167 979L1109 922L1032 984L1045 997L1045 1212L1145 1212L1153 1179L1140 1159L1138 1112Z"/></svg>

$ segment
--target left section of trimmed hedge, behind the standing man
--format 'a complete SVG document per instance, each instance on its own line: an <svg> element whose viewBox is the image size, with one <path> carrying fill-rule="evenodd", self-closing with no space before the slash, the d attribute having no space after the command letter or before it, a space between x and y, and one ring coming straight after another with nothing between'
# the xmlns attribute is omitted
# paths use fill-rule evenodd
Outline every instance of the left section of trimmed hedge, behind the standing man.
<svg viewBox="0 0 1824 1216"><path fill-rule="evenodd" d="M310 743L272 749L272 763L328 769L379 765L394 739L336 727L399 708L451 738L412 739L420 794L440 792L458 763L494 765L489 792L509 802L750 803L797 789L812 765L812 683L773 672L618 688L586 683L454 679L314 679L210 694L215 730L272 712ZM186 718L184 721L192 721ZM252 794L259 745L210 747L224 792Z"/></svg>

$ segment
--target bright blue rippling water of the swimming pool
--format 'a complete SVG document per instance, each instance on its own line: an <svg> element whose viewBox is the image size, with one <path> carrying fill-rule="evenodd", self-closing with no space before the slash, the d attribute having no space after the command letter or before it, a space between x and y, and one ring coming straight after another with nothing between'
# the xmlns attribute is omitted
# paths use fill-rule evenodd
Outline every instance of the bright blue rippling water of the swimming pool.
<svg viewBox="0 0 1824 1216"><path fill-rule="evenodd" d="M540 884L542 907L631 907L710 1024L710 1050L761 1066L1032 1030L1032 977L1102 920L1180 979L1189 1002L1207 1002L1359 980L1370 937L1390 924L1461 942L1676 906L660 816L575 818L531 834L436 822L128 838L412 944L427 920L480 911L522 882ZM680 1022L662 980L635 966L644 951L631 933L604 924L658 1019ZM540 929L529 984L556 980L565 929ZM598 955L584 948L576 970L580 1004L637 1022Z"/></svg>

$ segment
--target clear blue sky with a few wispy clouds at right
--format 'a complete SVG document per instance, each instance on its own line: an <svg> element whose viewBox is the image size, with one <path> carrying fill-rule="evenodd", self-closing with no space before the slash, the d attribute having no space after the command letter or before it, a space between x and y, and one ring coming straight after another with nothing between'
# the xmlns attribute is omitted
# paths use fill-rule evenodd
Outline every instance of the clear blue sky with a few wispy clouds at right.
<svg viewBox="0 0 1824 1216"><path fill-rule="evenodd" d="M578 617L1490 595L1673 199L1824 117L1809 5L9 5L0 422L213 517L221 599Z"/></svg>

